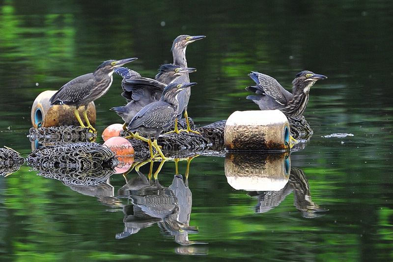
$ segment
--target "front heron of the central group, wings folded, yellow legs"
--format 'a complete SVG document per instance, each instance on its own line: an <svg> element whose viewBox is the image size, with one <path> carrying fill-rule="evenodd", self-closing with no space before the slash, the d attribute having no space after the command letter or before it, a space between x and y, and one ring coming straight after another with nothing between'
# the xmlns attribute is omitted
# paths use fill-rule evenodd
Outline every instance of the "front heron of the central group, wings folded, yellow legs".
<svg viewBox="0 0 393 262"><path fill-rule="evenodd" d="M157 139L162 131L167 128L178 115L178 94L182 90L196 84L197 83L172 83L165 87L159 101L145 106L132 118L126 129L127 133L130 134L127 138L136 138L147 142L149 144L151 159L154 159L152 146L158 151L163 160L168 159L158 146ZM124 124L123 127L125 129L126 124ZM140 136L139 133L147 137L147 139ZM150 138L154 138L153 143Z"/></svg>

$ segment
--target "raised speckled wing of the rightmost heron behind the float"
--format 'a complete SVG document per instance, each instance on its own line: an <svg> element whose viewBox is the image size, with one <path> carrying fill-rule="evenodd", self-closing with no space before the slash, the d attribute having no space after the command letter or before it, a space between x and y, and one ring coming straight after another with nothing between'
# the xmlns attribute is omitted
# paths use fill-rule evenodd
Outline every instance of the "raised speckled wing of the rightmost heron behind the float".
<svg viewBox="0 0 393 262"><path fill-rule="evenodd" d="M258 87L260 87L255 93L267 95L281 105L286 104L287 94L285 94L285 92L288 91L285 90L276 79L258 72L252 72L249 76L258 84Z"/></svg>

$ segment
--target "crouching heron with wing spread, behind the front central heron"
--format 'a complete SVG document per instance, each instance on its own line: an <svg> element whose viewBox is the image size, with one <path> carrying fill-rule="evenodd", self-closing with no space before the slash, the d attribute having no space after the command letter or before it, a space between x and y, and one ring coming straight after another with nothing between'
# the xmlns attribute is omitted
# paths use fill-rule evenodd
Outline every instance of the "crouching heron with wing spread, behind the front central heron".
<svg viewBox="0 0 393 262"><path fill-rule="evenodd" d="M129 123L144 106L158 101L168 84L173 83L184 74L195 71L197 71L195 68L163 64L158 69L154 80L141 77L138 72L125 67L115 68L114 73L123 77L121 82L123 93L121 95L129 102L125 106L112 107L111 110L116 112L124 122Z"/></svg>

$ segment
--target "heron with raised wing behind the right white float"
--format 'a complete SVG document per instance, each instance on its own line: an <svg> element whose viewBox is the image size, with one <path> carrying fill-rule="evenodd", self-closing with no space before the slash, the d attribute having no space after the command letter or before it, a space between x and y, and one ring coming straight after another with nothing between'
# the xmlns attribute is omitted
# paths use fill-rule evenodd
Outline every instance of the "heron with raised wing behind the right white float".
<svg viewBox="0 0 393 262"><path fill-rule="evenodd" d="M285 90L273 77L258 72L249 76L257 86L246 87L256 95L249 95L261 110L278 109L287 117L301 116L309 103L309 90L319 79L327 78L310 71L302 71L292 81L292 93Z"/></svg>

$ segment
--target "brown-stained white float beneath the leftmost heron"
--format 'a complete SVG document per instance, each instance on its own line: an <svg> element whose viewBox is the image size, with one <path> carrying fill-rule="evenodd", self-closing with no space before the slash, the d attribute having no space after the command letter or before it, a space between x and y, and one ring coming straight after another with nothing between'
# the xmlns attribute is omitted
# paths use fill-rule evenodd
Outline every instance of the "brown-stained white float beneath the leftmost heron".
<svg viewBox="0 0 393 262"><path fill-rule="evenodd" d="M75 125L79 126L80 123L75 116L75 106L68 105L54 105L51 106L49 99L56 93L56 90L47 90L40 93L34 100L31 107L31 124L34 128L39 127L51 127L61 125ZM84 107L79 107L78 112L81 119L84 120L83 116ZM87 106L87 117L89 118L90 124L95 125L96 112L94 102L90 102Z"/></svg>

